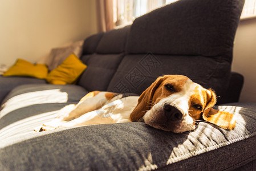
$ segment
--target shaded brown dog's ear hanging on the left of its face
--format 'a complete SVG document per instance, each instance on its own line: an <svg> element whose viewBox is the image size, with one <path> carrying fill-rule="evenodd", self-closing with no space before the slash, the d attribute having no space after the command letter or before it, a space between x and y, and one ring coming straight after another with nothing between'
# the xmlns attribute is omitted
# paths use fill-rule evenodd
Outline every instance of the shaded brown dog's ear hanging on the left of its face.
<svg viewBox="0 0 256 171"><path fill-rule="evenodd" d="M151 109L153 106L152 98L156 91L156 89L159 87L159 85L162 83L162 81L165 79L165 76L159 77L156 79L155 82L151 84L139 97L138 103L136 107L133 109L130 120L131 121L139 121L141 117L145 115L145 113Z"/></svg>

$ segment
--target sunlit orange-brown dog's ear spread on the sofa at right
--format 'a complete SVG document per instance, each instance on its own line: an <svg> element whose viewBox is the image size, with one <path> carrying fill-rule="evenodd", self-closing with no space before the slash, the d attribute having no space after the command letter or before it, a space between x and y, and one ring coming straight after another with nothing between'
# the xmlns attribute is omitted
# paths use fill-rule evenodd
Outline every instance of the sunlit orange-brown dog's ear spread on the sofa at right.
<svg viewBox="0 0 256 171"><path fill-rule="evenodd" d="M224 112L224 111L217 111L213 109L212 107L216 103L216 95L211 90L207 90L207 103L206 107L204 109L204 112L202 113L202 118L209 123L218 125L221 128L224 129L234 129L235 127L235 117L232 113Z"/></svg>

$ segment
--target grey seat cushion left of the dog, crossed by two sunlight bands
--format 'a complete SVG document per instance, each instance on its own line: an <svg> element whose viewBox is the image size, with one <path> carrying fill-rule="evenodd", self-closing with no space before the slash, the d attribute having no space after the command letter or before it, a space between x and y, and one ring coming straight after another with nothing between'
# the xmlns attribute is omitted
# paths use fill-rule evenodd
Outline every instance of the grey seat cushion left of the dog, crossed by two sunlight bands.
<svg viewBox="0 0 256 171"><path fill-rule="evenodd" d="M54 119L68 104L76 104L88 93L75 85L25 84L14 88L0 111L2 137L32 133L35 127Z"/></svg>

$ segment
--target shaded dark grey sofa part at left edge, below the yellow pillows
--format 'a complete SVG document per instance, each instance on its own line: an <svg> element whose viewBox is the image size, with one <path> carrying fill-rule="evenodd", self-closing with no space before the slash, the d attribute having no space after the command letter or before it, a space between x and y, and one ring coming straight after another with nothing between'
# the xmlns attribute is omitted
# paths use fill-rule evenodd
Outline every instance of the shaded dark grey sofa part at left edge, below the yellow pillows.
<svg viewBox="0 0 256 171"><path fill-rule="evenodd" d="M2 104L3 99L5 99L5 96L11 91L11 89L22 84L34 83L45 84L46 80L19 76L5 77L0 75L0 104Z"/></svg>

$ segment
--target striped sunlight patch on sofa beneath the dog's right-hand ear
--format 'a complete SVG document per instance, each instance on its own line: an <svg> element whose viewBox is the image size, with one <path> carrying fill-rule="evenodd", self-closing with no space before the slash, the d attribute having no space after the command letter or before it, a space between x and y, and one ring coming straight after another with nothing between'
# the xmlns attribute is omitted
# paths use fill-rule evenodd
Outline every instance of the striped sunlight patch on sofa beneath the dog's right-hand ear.
<svg viewBox="0 0 256 171"><path fill-rule="evenodd" d="M223 105L217 108L220 111L230 112L235 115L237 124L234 130L222 132L223 128L205 121L199 122L198 128L192 133L189 133L184 142L174 146L166 165L186 160L189 157L197 156L245 139L248 132L245 127L246 121L243 119L242 115L239 114L241 113L242 107Z"/></svg>

